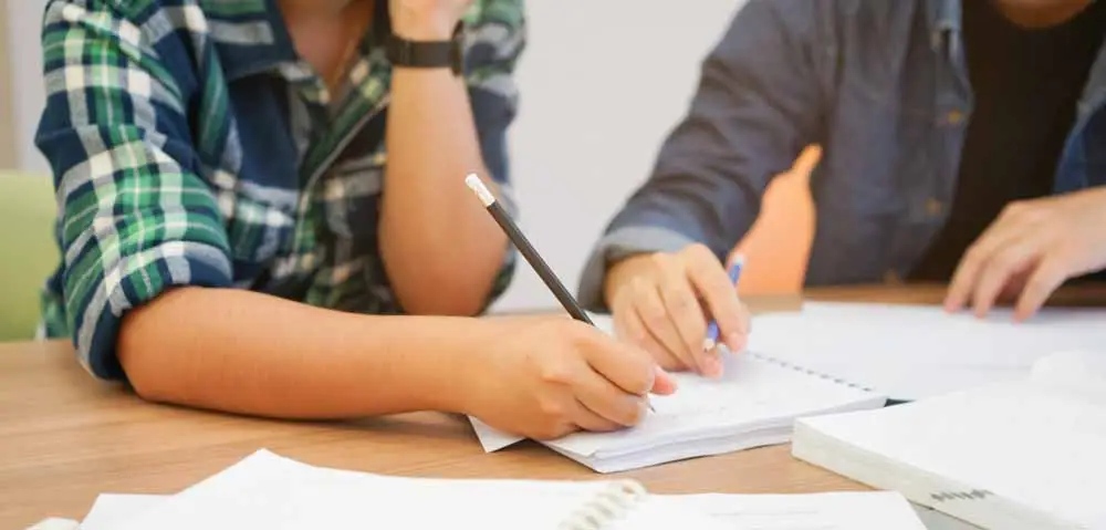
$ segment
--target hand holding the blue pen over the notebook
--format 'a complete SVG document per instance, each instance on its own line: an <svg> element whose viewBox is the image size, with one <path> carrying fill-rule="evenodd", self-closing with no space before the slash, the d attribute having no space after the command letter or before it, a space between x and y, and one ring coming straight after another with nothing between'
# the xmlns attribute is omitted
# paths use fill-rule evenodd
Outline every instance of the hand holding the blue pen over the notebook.
<svg viewBox="0 0 1106 530"><path fill-rule="evenodd" d="M706 350L708 316L719 342L744 349L750 316L718 258L701 245L615 263L604 285L616 334L644 347L666 370L721 375L718 349Z"/></svg>

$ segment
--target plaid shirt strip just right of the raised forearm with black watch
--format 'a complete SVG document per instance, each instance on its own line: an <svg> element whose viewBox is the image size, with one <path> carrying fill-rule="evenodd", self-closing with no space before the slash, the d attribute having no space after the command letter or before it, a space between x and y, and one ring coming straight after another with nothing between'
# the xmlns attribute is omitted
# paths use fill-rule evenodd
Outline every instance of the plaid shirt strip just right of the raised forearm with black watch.
<svg viewBox="0 0 1106 530"><path fill-rule="evenodd" d="M518 114L514 69L525 48L526 23L522 0L478 0L469 11L466 79L484 166L499 185L500 202L518 214L511 189L507 133ZM517 253L509 245L489 303L508 288Z"/></svg>

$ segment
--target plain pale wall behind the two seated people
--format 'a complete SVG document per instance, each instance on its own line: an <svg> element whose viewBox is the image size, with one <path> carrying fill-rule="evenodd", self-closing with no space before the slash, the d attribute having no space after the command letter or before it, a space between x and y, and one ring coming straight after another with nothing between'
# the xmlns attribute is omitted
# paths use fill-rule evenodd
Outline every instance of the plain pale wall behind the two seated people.
<svg viewBox="0 0 1106 530"><path fill-rule="evenodd" d="M699 64L743 0L528 0L530 43L511 133L521 222L575 291L592 243L646 178L687 108ZM46 173L32 144L43 104L39 22L45 0L8 0L17 155ZM555 306L525 263L498 310Z"/></svg>

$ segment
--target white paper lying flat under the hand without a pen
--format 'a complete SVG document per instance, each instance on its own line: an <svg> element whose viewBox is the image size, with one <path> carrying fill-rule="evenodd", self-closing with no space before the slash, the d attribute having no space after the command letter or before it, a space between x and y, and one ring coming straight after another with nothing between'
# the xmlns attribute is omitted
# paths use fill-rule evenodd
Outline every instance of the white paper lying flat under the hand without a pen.
<svg viewBox="0 0 1106 530"><path fill-rule="evenodd" d="M980 321L938 306L807 302L755 316L749 349L917 399L1029 374L1037 358L1106 344L1106 311L1047 308L1014 323L1000 309Z"/></svg>

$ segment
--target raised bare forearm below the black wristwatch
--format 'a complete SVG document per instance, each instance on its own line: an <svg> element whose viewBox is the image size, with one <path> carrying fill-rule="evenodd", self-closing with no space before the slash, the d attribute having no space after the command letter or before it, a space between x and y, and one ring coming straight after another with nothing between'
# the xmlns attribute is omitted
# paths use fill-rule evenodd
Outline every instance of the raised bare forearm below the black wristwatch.
<svg viewBox="0 0 1106 530"><path fill-rule="evenodd" d="M463 80L396 69L387 149L380 245L400 302L411 313L477 313L507 240L465 187L466 175L487 172Z"/></svg>

